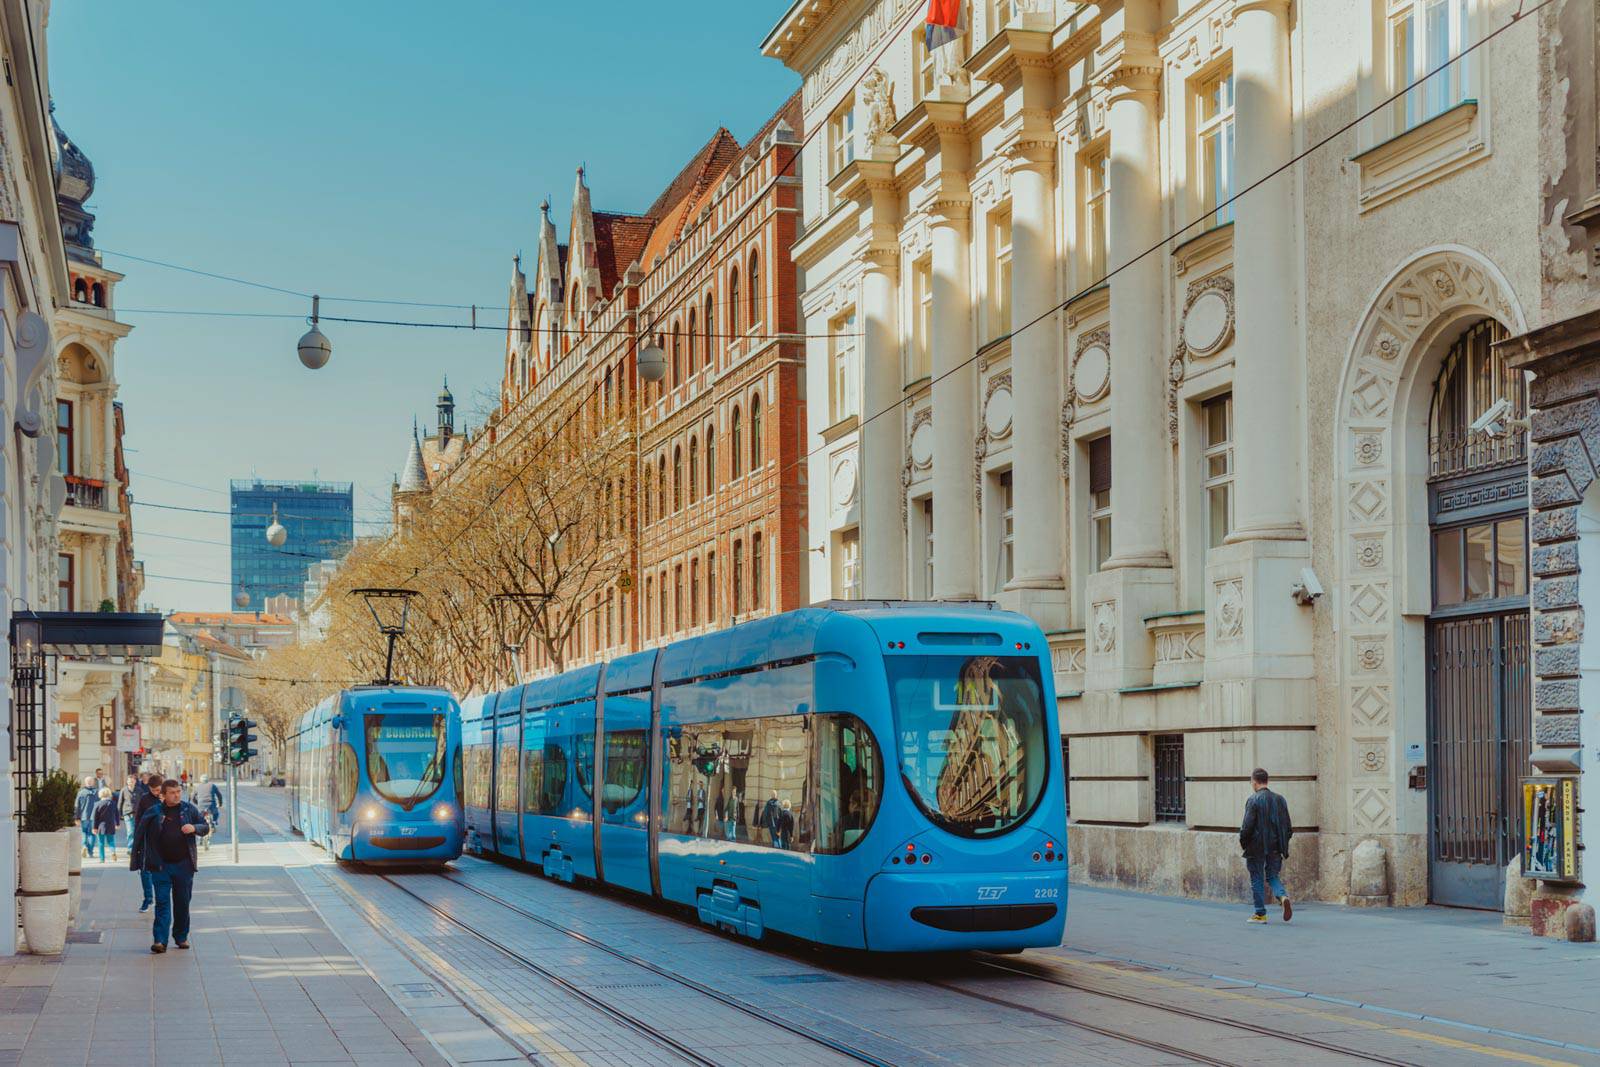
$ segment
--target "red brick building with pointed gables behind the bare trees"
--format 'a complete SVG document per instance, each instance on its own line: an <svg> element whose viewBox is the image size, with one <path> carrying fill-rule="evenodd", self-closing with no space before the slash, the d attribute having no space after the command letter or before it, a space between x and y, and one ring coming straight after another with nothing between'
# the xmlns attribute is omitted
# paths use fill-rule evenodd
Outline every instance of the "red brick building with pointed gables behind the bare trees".
<svg viewBox="0 0 1600 1067"><path fill-rule="evenodd" d="M744 146L718 130L642 214L594 210L579 170L566 243L541 205L533 285L520 261L512 275L494 434L579 397L637 434L635 482L616 488L632 565L568 664L805 603L798 126L797 94ZM651 339L667 376L642 384Z"/></svg>

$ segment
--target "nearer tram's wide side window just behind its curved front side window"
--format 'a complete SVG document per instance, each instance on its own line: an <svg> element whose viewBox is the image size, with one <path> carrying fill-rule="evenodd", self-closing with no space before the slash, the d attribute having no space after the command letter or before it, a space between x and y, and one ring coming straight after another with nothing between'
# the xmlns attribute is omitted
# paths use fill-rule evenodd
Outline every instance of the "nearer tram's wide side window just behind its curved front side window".
<svg viewBox="0 0 1600 1067"><path fill-rule="evenodd" d="M811 851L810 734L805 715L683 725L669 753L667 830Z"/></svg>

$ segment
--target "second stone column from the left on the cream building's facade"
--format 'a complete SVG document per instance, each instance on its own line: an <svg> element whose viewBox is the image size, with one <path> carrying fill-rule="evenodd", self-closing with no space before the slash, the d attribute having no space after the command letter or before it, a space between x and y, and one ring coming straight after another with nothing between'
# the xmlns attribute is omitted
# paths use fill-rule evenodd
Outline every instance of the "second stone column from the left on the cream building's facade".
<svg viewBox="0 0 1600 1067"><path fill-rule="evenodd" d="M973 486L971 203L939 200L933 216L933 595L978 597Z"/></svg>

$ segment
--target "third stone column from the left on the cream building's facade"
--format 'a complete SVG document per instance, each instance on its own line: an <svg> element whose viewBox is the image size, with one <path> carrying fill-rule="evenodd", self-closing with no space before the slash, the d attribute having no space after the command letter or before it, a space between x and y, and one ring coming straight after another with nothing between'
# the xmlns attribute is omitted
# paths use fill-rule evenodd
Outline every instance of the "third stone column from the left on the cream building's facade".
<svg viewBox="0 0 1600 1067"><path fill-rule="evenodd" d="M1016 517L1016 576L1022 611L1045 629L1066 629L1061 581L1061 366L1054 317L1034 323L1056 302L1056 242L1051 211L1054 139L1011 147L1011 490ZM1029 325L1034 323L1034 325ZM934 557L938 561L938 555Z"/></svg>

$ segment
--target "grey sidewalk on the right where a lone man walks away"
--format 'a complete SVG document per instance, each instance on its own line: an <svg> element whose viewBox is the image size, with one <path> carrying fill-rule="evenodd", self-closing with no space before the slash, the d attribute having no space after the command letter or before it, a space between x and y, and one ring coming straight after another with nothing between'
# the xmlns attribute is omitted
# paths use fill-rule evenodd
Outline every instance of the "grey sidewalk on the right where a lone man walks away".
<svg viewBox="0 0 1600 1067"><path fill-rule="evenodd" d="M1600 1048L1600 944L1546 941L1499 913L1448 907L1299 904L1288 925L1270 909L1267 926L1248 926L1248 902L1072 886L1058 952ZM1171 977L1182 974L1149 976Z"/></svg>

